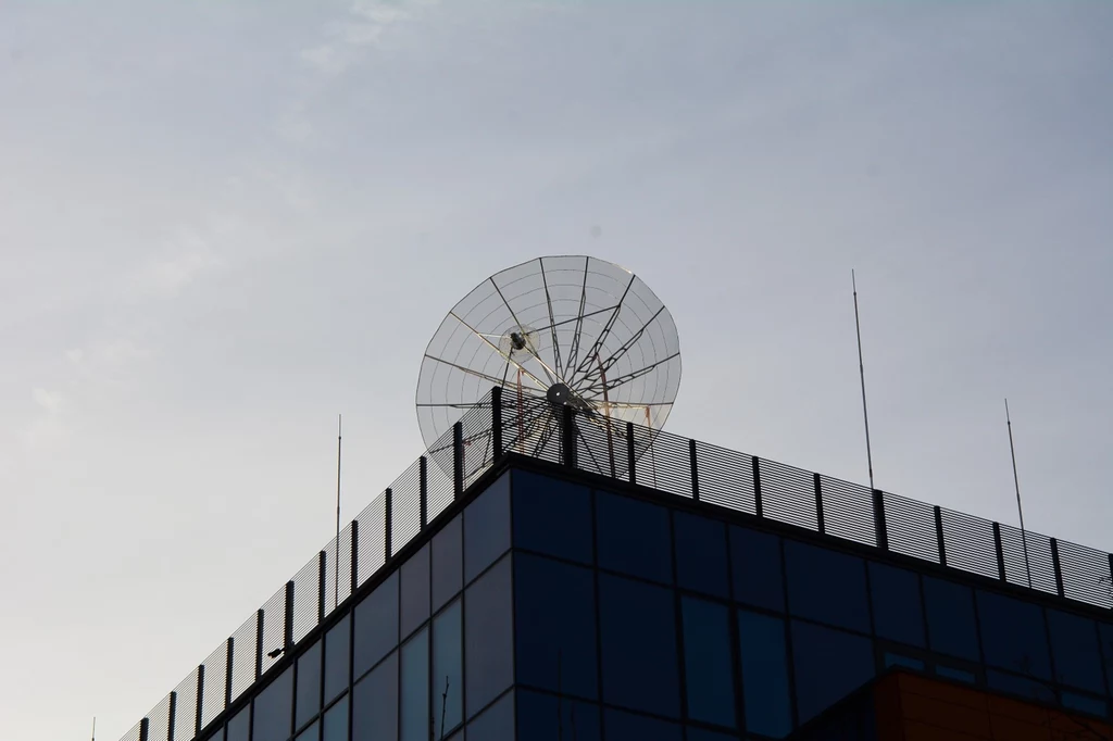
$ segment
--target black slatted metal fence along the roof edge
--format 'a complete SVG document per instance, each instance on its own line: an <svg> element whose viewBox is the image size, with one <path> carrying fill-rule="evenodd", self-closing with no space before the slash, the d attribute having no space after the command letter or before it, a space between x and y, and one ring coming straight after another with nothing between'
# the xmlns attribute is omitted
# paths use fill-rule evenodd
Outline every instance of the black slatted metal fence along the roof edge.
<svg viewBox="0 0 1113 741"><path fill-rule="evenodd" d="M544 399L504 408L495 388L121 741L198 737L505 452L1113 607L1109 553Z"/></svg>

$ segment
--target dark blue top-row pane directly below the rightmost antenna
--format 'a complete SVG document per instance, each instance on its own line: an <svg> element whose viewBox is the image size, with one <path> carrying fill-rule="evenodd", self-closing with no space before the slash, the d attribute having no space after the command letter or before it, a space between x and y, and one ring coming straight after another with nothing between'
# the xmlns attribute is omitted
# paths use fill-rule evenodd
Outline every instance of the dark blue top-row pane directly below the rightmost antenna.
<svg viewBox="0 0 1113 741"><path fill-rule="evenodd" d="M985 663L1020 674L1051 679L1043 610L993 592L977 592Z"/></svg>

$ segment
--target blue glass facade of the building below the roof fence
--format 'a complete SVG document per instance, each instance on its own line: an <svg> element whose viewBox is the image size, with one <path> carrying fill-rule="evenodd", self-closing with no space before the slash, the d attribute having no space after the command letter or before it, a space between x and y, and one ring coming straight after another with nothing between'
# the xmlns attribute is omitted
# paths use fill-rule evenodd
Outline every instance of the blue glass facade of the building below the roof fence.
<svg viewBox="0 0 1113 741"><path fill-rule="evenodd" d="M213 738L776 739L889 668L1109 717L1113 621L713 514L515 470Z"/></svg>

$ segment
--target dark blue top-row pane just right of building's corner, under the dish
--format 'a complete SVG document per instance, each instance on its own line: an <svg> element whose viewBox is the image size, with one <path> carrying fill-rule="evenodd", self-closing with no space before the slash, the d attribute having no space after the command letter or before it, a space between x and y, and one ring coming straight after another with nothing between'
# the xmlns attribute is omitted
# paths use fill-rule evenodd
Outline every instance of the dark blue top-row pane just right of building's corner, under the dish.
<svg viewBox="0 0 1113 741"><path fill-rule="evenodd" d="M514 545L591 564L591 492L514 472Z"/></svg>

